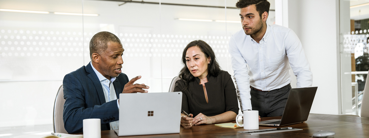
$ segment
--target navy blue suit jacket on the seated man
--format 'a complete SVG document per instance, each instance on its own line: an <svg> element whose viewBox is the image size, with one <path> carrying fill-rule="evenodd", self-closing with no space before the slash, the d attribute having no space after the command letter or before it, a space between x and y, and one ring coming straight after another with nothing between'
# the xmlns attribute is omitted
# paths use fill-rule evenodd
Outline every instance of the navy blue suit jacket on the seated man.
<svg viewBox="0 0 369 138"><path fill-rule="evenodd" d="M113 82L117 98L128 77L121 73ZM83 132L83 119L100 118L101 130L110 130L110 122L119 120L117 100L105 101L104 91L89 63L65 75L63 79L64 128L68 133Z"/></svg>

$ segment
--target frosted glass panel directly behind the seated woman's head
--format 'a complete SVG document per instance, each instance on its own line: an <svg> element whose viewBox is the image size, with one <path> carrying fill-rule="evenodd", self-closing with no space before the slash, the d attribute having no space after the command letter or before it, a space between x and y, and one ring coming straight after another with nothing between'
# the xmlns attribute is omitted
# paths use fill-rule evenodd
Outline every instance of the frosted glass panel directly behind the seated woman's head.
<svg viewBox="0 0 369 138"><path fill-rule="evenodd" d="M225 6L224 0L186 1L182 4ZM196 21L198 20L198 21ZM163 90L168 91L173 77L179 74L184 47L193 40L204 40L215 52L220 66L225 70L227 37L224 8L161 6Z"/></svg>

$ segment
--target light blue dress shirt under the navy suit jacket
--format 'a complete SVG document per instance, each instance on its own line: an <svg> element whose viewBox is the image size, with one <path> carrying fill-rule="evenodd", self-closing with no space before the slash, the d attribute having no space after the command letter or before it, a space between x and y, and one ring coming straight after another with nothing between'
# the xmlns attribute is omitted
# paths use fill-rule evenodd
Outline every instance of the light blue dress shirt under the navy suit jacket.
<svg viewBox="0 0 369 138"><path fill-rule="evenodd" d="M101 86L103 87L105 101L110 102L112 100L117 100L117 95L115 94L115 89L113 85L113 82L115 81L115 77L110 77L110 80L108 80L99 71L97 71L95 67L93 67L91 62L90 64L91 64L93 71L95 71L97 78L99 78ZM118 100L117 100L117 104L118 104L118 109L119 109ZM118 129L119 129L119 120L110 122L110 130L118 130Z"/></svg>

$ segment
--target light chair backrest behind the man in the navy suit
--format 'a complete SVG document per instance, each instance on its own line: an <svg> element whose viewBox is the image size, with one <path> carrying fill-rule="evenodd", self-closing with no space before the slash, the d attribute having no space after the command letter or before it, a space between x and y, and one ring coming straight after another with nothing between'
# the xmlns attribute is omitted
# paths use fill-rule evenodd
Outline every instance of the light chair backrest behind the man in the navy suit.
<svg viewBox="0 0 369 138"><path fill-rule="evenodd" d="M54 122L54 133L67 133L64 128L63 122L63 109L64 109L64 93L63 85L59 87L58 93L56 93L56 98L54 102L54 114L52 120Z"/></svg>

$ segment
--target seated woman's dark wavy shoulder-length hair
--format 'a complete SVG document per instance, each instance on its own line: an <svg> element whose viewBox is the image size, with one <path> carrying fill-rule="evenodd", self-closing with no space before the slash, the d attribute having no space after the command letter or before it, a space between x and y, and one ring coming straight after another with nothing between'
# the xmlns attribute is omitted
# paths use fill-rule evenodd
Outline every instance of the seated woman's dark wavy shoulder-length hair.
<svg viewBox="0 0 369 138"><path fill-rule="evenodd" d="M186 89L188 86L188 83L190 81L193 81L195 79L195 77L193 77L193 75L191 74L190 70L187 68L187 64L186 64L186 53L187 53L187 49L189 49L190 47L193 46L197 46L199 47L199 49L201 50L201 52L203 52L205 54L205 57L210 57L210 64L208 64L208 75L211 75L213 77L217 77L218 74L221 71L221 68L217 62L217 59L215 58L215 54L213 49L211 49L211 47L204 42L203 40L194 40L192 42L190 42L184 49L183 49L183 53L182 53L182 64L184 65L184 67L182 68L182 70L179 72L178 77L183 79L185 83L185 86L183 88Z"/></svg>

